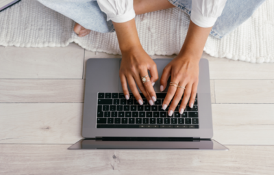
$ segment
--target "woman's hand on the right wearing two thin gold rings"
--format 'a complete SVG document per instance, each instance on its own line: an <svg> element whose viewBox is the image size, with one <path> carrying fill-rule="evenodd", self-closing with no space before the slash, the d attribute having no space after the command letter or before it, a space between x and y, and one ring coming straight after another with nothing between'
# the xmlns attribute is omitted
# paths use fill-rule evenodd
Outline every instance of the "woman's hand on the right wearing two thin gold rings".
<svg viewBox="0 0 274 175"><path fill-rule="evenodd" d="M189 106L191 108L195 103L199 81L199 59L189 55L178 55L175 57L162 72L162 77L160 79L161 92L166 88L167 80L170 76L171 82L173 82L173 84L177 83L180 87L175 87L173 85L169 86L166 98L164 98L164 102L162 103L162 108L165 110L166 107L170 105L168 114L169 116L172 116L181 99L182 103L179 107L179 113L181 114L184 112L184 109L186 109L189 99ZM182 87L185 87L186 89ZM182 98L183 94L184 97Z"/></svg>

